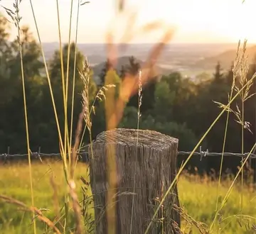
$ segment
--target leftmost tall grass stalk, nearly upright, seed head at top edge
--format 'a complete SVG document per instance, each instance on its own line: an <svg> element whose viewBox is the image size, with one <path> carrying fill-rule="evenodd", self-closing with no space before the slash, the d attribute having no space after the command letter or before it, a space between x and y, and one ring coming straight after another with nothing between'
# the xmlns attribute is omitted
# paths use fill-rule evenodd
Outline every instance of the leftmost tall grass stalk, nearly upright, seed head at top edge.
<svg viewBox="0 0 256 234"><path fill-rule="evenodd" d="M24 116L25 116L25 125L26 125L26 143L28 151L28 167L29 167L29 177L30 177L30 186L31 186L31 205L34 207L34 198L33 198L33 182L32 182L32 166L31 166L31 150L29 145L29 132L28 132L28 113L26 105L26 88L25 88L25 79L24 79L24 70L23 70L23 55L22 55L22 42L21 42L21 28L20 21L21 16L19 16L19 4L21 1L15 0L14 9L16 13L16 28L18 33L18 45L19 45L19 55L21 61L21 80L22 80L22 90L23 90L23 105L24 105ZM33 213L33 232L36 234L36 216Z"/></svg>

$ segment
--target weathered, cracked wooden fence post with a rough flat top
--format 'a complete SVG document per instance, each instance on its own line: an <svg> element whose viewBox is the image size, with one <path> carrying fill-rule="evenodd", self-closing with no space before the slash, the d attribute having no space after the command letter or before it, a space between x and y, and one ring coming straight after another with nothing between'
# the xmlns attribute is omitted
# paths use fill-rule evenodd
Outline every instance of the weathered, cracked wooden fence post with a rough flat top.
<svg viewBox="0 0 256 234"><path fill-rule="evenodd" d="M137 134L139 135L138 143ZM92 152L89 150L90 182L97 234L107 233L105 208L111 204L106 204L108 188L106 157L109 147L113 145L118 177L115 197L116 234L130 233L133 196L132 233L141 234L145 232L159 206L161 197L176 177L178 139L156 131L139 130L138 133L136 129L124 128L109 130L97 135L92 143ZM134 172L136 172L135 186ZM161 233L162 225L164 233L181 233L178 207L178 191L175 185L166 197L164 206L160 208L149 233Z"/></svg>

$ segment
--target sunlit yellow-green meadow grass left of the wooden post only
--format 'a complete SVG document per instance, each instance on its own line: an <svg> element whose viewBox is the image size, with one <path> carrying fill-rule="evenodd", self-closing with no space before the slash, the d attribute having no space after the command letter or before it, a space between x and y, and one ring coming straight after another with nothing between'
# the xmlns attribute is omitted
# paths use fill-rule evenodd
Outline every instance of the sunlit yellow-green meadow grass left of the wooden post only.
<svg viewBox="0 0 256 234"><path fill-rule="evenodd" d="M69 191L68 186L65 181L65 175L63 174L61 162L34 162L33 167L33 192L34 192L34 202L35 206L38 210L43 210L42 213L48 217L49 221L55 223L55 226L59 228L60 233L63 233L63 228L60 223L63 222L63 214L65 211L59 211L59 214L56 213L56 202L60 206L63 206L63 201L65 201L65 194ZM15 165L1 165L1 175L0 175L0 194L4 196L8 196L12 199L16 199L21 201L26 206L30 207L30 201L28 196L30 194L29 188L29 167L26 164L15 164ZM77 189L80 191L78 194L79 201L82 200L82 189L81 186L84 186L80 177L87 178L87 165L78 163L78 174L79 176L75 177L75 184L77 185ZM55 184L53 187L52 184ZM91 196L90 190L88 191L88 195ZM17 211L19 208L15 206L15 204L4 204L5 200L1 200L1 221L0 223L4 223L4 219L8 217L9 222L14 223L14 229L19 228L23 231L23 233L33 233L33 228L31 229L31 218L26 216L21 220L23 216L23 211ZM71 201L70 201L71 202ZM64 213L63 213L64 212ZM73 213L70 210L70 213ZM12 217L11 217L12 216ZM60 218L60 222L56 222L57 218ZM68 228L75 226L75 216L70 223L68 223ZM41 233L41 230L46 230L46 225L40 221L38 218L35 219L36 223L38 223L38 232ZM56 224L57 223L57 224ZM18 227L18 225L20 225ZM3 224L5 226L5 224ZM6 227L5 233L9 233L9 228ZM1 229L2 230L2 229ZM2 233L2 231L1 231Z"/></svg>

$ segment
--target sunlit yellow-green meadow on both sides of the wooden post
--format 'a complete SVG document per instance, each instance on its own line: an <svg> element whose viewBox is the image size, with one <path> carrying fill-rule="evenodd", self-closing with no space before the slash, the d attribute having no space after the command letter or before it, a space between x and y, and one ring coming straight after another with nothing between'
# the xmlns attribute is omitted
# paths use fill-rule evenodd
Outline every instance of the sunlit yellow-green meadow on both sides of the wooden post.
<svg viewBox="0 0 256 234"><path fill-rule="evenodd" d="M30 180L28 166L23 164L16 165L1 165L0 174L0 194L11 196L14 199L22 201L28 206L31 205ZM59 207L64 204L64 193L68 189L63 176L62 164L60 162L35 162L33 167L33 191L35 206L37 208L47 208L50 211L43 213L53 220L54 211L57 203L53 199L53 191L58 192ZM80 176L87 177L87 167L85 164L78 164L75 172L77 182L77 191L79 198L82 199L82 182ZM50 183L50 178L53 178L56 189ZM220 188L220 200L223 199L231 181L223 182ZM199 178L196 176L183 175L178 181L178 195L182 208L186 209L186 213L195 219L197 222L206 223L209 225L215 214L217 182L210 182L208 177ZM247 231L245 224L252 227L254 218L256 217L256 192L252 185L246 186L243 189L243 209L240 212L240 192L238 187L235 187L230 194L228 202L220 211L222 217L218 217L219 231L215 229L214 233L255 233L253 230ZM18 233L33 233L33 224L31 222L31 213L22 211L15 204L6 204L0 200L0 233L3 234L18 234ZM236 215L243 214L242 218ZM184 216L184 215L183 215ZM252 216L252 217L249 217ZM240 216L241 217L241 216ZM249 218L248 218L249 217ZM188 216L186 216L187 219ZM240 221L239 221L240 220ZM191 223L191 221L190 221ZM256 223L256 221L255 221ZM41 221L36 221L37 233L46 233L46 225ZM67 227L74 226L73 220L68 221ZM182 230L184 233L189 233L191 224L182 222ZM195 227L192 228L193 233L200 233ZM68 232L70 233L71 230ZM48 231L52 233L52 231Z"/></svg>

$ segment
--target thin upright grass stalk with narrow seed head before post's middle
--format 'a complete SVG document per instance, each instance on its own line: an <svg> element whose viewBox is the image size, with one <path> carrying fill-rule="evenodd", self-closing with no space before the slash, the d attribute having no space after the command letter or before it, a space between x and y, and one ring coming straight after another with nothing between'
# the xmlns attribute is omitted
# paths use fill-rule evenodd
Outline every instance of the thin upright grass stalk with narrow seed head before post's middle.
<svg viewBox="0 0 256 234"><path fill-rule="evenodd" d="M140 107L142 106L142 70L139 70L139 92L138 92L138 115L137 115L137 147L136 147L136 155L135 155L135 172L134 172L134 186L133 186L133 194L135 194L135 185L136 185L136 172L137 172L137 157L138 157L138 147L139 147L139 118L141 117ZM132 216L130 223L130 234L132 234L132 221L134 215L134 195L132 196Z"/></svg>

